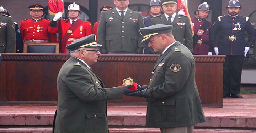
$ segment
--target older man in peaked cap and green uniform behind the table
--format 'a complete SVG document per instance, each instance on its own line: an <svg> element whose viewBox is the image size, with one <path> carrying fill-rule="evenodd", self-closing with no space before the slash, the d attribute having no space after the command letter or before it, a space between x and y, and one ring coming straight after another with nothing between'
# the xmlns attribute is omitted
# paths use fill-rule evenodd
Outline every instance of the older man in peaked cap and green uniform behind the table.
<svg viewBox="0 0 256 133"><path fill-rule="evenodd" d="M185 45L191 52L193 51L193 38L190 20L187 16L176 14L177 0L161 0L163 15L155 16L151 19L150 25L167 24L172 25L175 40Z"/></svg>

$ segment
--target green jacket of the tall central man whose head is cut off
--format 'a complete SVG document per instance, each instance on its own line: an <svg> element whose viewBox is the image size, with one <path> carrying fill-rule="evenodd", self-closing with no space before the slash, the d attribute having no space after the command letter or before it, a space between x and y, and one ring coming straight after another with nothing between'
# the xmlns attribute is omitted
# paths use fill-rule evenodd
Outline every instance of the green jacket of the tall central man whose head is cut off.
<svg viewBox="0 0 256 133"><path fill-rule="evenodd" d="M135 52L145 47L139 29L144 27L142 13L128 8L124 19L116 8L101 12L97 29L98 44L108 52Z"/></svg>

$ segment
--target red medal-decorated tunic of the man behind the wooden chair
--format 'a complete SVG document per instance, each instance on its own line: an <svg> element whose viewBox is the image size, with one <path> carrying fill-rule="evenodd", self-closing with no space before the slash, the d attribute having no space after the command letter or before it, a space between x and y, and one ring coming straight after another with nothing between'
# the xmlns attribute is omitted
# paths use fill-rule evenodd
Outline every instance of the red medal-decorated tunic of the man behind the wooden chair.
<svg viewBox="0 0 256 133"><path fill-rule="evenodd" d="M50 21L43 18L39 20L31 18L21 21L20 31L23 42L49 42L49 38L51 42L57 42L56 34L48 33L49 24Z"/></svg>

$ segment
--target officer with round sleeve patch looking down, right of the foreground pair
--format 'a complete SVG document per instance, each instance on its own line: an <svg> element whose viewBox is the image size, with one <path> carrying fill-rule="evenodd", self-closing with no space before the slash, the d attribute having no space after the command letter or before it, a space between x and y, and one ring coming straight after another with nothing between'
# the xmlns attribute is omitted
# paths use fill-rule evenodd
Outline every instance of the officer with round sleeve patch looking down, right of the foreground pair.
<svg viewBox="0 0 256 133"><path fill-rule="evenodd" d="M171 29L172 25L162 24L140 29L142 41L161 54L149 85L128 96L147 99L146 126L160 128L162 133L193 133L196 123L206 121L195 81L196 62Z"/></svg>

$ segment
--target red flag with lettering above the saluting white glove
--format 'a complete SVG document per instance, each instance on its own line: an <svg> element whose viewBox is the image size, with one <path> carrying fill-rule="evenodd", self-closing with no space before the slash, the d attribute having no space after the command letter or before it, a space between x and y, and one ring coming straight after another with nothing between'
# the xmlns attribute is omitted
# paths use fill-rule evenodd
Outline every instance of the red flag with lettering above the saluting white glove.
<svg viewBox="0 0 256 133"><path fill-rule="evenodd" d="M48 0L48 12L50 15L55 15L58 12L64 13L63 0Z"/></svg>

